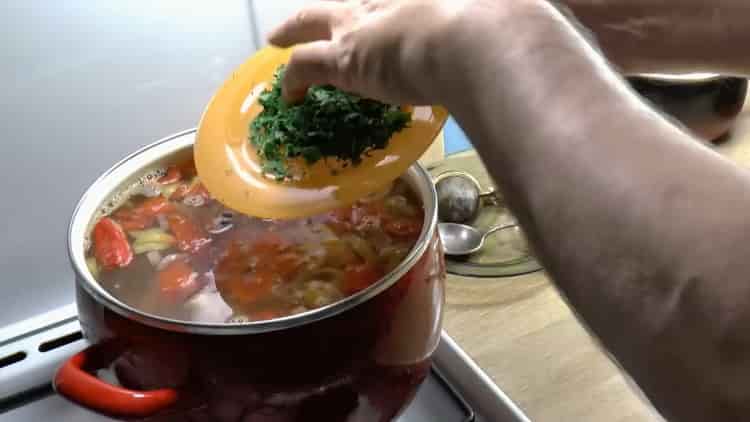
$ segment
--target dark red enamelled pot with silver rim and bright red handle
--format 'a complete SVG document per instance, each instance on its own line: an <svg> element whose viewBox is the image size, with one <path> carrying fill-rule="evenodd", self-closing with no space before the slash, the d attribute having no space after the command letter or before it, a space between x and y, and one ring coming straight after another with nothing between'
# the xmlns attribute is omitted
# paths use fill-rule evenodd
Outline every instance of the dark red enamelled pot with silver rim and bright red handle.
<svg viewBox="0 0 750 422"><path fill-rule="evenodd" d="M445 266L436 194L418 164L405 180L425 221L395 270L341 302L286 318L209 324L149 315L91 276L86 235L102 207L139 176L192 154L194 132L116 164L76 208L68 248L78 314L92 346L58 370L58 393L97 412L148 421L389 421L425 379L439 338ZM97 377L111 368L117 383ZM119 385L117 385L119 384Z"/></svg>

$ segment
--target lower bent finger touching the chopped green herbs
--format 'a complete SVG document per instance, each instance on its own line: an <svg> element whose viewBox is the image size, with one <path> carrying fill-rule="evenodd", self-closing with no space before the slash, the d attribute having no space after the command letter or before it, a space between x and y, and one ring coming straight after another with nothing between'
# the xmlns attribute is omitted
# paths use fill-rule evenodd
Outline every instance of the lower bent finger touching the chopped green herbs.
<svg viewBox="0 0 750 422"><path fill-rule="evenodd" d="M336 79L336 56L333 43L315 41L294 50L282 81L284 100L301 100L311 85L324 85Z"/></svg>

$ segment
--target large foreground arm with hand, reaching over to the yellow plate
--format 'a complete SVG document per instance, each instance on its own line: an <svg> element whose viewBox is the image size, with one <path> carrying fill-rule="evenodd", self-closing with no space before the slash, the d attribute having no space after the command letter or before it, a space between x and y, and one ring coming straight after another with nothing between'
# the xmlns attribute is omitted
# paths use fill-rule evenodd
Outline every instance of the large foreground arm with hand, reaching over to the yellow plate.
<svg viewBox="0 0 750 422"><path fill-rule="evenodd" d="M547 2L366 3L318 5L272 35L322 40L293 56L290 97L334 83L446 105L553 281L656 407L747 419L748 174L645 105Z"/></svg>

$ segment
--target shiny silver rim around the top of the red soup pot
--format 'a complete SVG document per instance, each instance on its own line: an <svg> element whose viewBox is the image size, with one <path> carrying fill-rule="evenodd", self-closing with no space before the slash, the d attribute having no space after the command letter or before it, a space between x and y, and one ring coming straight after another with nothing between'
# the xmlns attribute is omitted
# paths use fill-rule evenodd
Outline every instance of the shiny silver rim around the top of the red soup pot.
<svg viewBox="0 0 750 422"><path fill-rule="evenodd" d="M86 190L73 211L68 228L68 254L76 274L76 283L108 309L126 318L156 328L175 332L213 335L257 334L298 327L338 315L377 296L403 277L427 252L437 230L437 194L429 173L419 164L412 165L406 173L407 179L422 199L425 224L416 246L404 261L369 288L331 305L284 318L247 323L208 323L182 321L142 312L121 302L107 292L90 274L85 264L84 239L94 214L114 194L128 177L132 177L149 164L163 157L189 148L195 140L195 129L176 133L160 139L128 155L99 176Z"/></svg>

